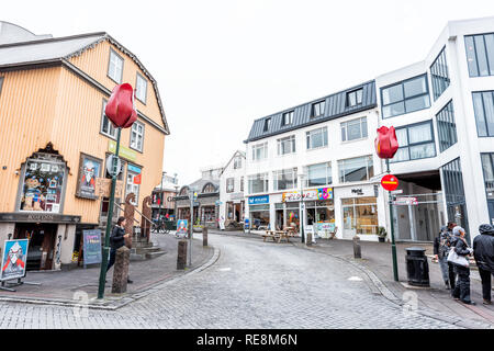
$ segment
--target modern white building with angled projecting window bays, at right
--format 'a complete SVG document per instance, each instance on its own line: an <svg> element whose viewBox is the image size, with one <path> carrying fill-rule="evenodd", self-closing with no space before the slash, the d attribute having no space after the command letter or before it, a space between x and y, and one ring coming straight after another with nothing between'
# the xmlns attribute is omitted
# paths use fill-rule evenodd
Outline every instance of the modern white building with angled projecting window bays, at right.
<svg viewBox="0 0 494 351"><path fill-rule="evenodd" d="M430 241L454 220L473 238L494 220L494 18L449 22L424 61L375 83L401 145L391 171L418 202L394 207L396 237Z"/></svg>

